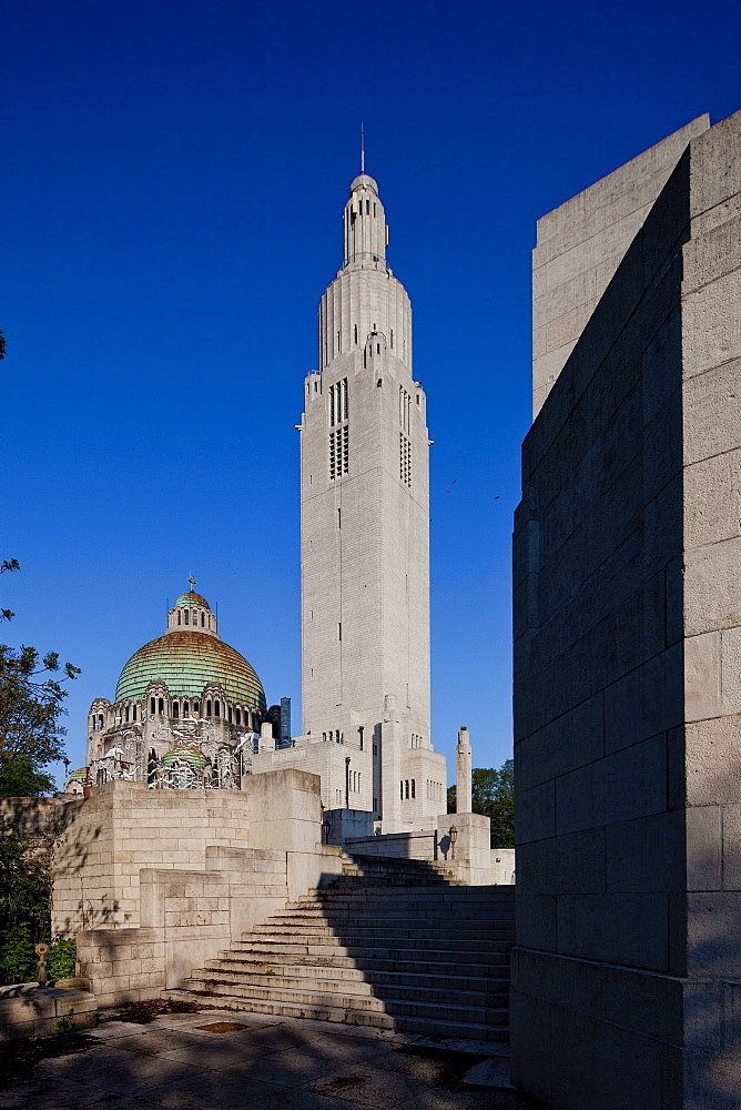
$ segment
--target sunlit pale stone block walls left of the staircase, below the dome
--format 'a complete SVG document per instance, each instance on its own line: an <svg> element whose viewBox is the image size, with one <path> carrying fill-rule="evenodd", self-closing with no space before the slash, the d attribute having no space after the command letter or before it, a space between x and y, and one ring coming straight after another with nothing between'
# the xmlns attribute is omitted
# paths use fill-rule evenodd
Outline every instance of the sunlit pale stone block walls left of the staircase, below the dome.
<svg viewBox="0 0 741 1110"><path fill-rule="evenodd" d="M243 791L113 780L64 804L53 925L75 935L100 1006L156 998L193 967L342 874L321 841L316 775L288 768Z"/></svg>

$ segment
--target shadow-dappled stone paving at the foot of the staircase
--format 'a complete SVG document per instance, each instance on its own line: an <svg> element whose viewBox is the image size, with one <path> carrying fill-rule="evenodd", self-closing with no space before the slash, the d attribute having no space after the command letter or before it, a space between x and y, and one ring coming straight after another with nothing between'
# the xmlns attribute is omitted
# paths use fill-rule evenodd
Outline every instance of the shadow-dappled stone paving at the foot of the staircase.
<svg viewBox="0 0 741 1110"><path fill-rule="evenodd" d="M229 1028L237 1023L237 1028ZM207 1028L211 1026L212 1028ZM206 1028L203 1028L206 1027ZM226 1028L224 1028L226 1027ZM453 1045L224 1010L108 1020L85 1051L42 1060L2 1110L531 1110L507 1060ZM496 1051L496 1046L483 1050ZM471 1070L475 1069L475 1070ZM493 1086L495 1084L495 1086Z"/></svg>

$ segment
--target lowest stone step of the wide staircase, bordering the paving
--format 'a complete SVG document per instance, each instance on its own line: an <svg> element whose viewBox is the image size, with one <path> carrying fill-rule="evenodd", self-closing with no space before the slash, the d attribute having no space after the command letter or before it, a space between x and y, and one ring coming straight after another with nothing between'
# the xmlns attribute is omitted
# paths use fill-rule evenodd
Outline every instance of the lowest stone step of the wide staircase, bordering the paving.
<svg viewBox="0 0 741 1110"><path fill-rule="evenodd" d="M211 998L209 993L189 990L169 990L168 998L193 1001L193 998ZM458 1038L461 1040L483 1040L506 1042L509 1040L507 1025L488 1022L456 1021L440 1007L441 1012L425 1017L408 1017L397 1013L368 1012L356 1010L352 1006L317 1006L295 1005L290 1002L262 1001L245 999L237 996L219 996L220 1006L231 1010L242 1010L250 1013L267 1013L285 1018L306 1018L314 1021L336 1021L352 1026L368 1026L377 1029L392 1029L399 1032L417 1032L430 1037ZM508 1017L507 1011L503 1015Z"/></svg>

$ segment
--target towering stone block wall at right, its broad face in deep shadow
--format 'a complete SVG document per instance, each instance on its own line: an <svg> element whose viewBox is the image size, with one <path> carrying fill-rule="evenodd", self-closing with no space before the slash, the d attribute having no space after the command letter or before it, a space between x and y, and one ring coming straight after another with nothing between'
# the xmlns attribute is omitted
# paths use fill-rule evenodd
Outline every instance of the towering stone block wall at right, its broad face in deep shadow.
<svg viewBox="0 0 741 1110"><path fill-rule="evenodd" d="M741 114L701 124L522 452L512 1081L559 1110L739 1106Z"/></svg>

